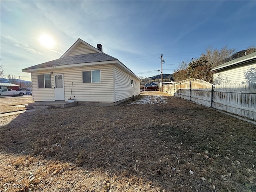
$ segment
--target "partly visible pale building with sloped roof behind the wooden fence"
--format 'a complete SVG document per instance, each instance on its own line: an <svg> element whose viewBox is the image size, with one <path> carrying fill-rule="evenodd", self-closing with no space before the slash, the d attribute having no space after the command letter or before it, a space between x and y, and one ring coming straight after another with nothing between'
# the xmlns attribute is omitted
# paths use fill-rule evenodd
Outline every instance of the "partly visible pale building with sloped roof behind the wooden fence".
<svg viewBox="0 0 256 192"><path fill-rule="evenodd" d="M216 85L256 82L256 52L219 65L212 71Z"/></svg>

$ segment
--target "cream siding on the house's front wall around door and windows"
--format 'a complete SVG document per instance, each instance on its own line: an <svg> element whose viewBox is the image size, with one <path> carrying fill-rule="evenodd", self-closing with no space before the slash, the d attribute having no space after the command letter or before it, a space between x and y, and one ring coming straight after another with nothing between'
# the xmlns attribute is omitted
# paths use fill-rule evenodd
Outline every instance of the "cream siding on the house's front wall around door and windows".
<svg viewBox="0 0 256 192"><path fill-rule="evenodd" d="M82 71L100 70L100 83L82 83ZM32 73L32 88L34 101L55 101L54 75L52 75L52 88L38 89L37 74L46 74L51 71ZM114 102L113 65L98 67L82 67L54 70L54 74L64 74L65 100L68 101L72 88L72 98L78 102Z"/></svg>

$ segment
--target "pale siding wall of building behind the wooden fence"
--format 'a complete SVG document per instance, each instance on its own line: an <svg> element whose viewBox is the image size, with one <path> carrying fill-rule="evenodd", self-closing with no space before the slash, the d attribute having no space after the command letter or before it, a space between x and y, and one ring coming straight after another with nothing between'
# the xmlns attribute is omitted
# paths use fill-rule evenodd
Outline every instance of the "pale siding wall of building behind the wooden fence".
<svg viewBox="0 0 256 192"><path fill-rule="evenodd" d="M213 75L214 84L240 84L256 82L256 64L234 67Z"/></svg>

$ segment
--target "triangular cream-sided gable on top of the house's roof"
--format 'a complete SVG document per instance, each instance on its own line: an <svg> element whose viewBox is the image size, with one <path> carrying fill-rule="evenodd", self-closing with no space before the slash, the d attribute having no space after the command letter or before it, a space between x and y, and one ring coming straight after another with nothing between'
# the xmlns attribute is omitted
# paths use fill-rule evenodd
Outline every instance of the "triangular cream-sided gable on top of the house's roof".
<svg viewBox="0 0 256 192"><path fill-rule="evenodd" d="M102 53L100 50L78 38L76 42L60 57L76 56L82 54Z"/></svg>

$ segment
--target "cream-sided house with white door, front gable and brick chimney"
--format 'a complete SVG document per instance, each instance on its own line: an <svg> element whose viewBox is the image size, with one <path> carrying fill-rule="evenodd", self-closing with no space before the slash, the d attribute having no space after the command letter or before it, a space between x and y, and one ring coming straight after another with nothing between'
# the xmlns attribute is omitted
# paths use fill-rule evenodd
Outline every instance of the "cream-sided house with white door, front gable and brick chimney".
<svg viewBox="0 0 256 192"><path fill-rule="evenodd" d="M23 69L31 73L33 100L72 98L78 105L113 106L139 95L140 78L118 59L103 53L101 44L97 47L78 39L59 59Z"/></svg>

